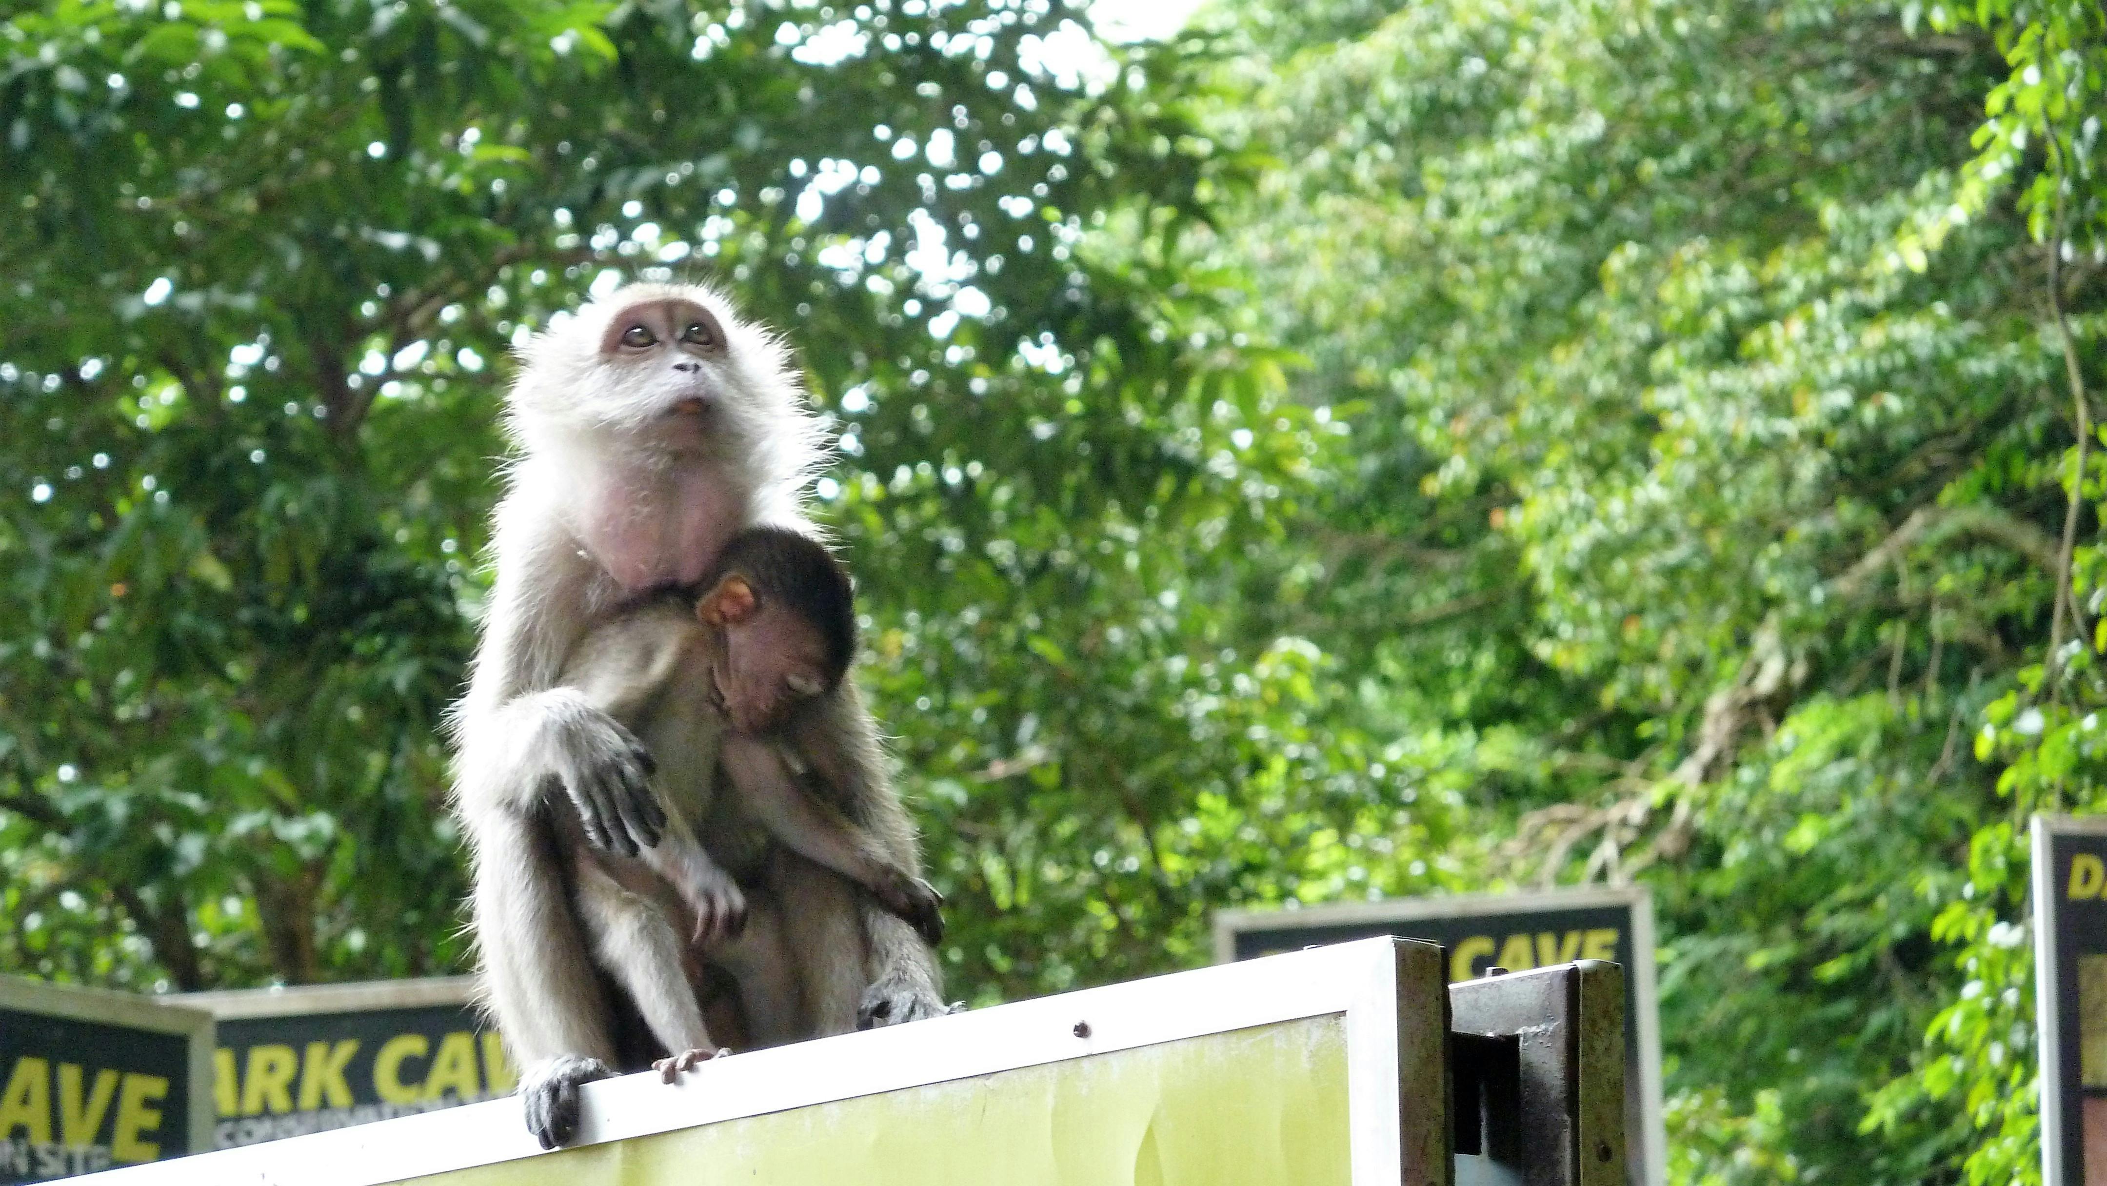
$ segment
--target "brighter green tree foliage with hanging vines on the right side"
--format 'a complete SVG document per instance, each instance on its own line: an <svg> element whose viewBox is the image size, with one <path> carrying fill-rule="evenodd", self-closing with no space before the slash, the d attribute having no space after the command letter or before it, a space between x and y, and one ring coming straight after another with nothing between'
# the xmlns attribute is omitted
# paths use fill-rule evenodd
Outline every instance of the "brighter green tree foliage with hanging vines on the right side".
<svg viewBox="0 0 2107 1186"><path fill-rule="evenodd" d="M1264 101L1222 120L1283 169L1224 253L1359 459L1313 640L1380 655L1429 775L1477 767L1481 876L1654 887L1675 1175L2037 1173L2014 923L2025 813L2090 803L2099 8L1239 17Z"/></svg>

